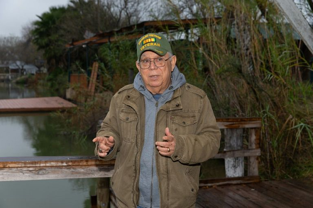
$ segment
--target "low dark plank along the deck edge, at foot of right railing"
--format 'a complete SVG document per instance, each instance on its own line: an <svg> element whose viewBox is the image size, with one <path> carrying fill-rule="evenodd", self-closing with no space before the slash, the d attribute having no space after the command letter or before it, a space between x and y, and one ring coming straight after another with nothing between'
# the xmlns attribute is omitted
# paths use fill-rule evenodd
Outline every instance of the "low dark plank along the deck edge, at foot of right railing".
<svg viewBox="0 0 313 208"><path fill-rule="evenodd" d="M217 179L202 179L199 182L199 187L212 187L221 185L233 185L233 184L247 184L256 183L260 181L259 176L245 176L245 177L233 177L233 178L217 178Z"/></svg>

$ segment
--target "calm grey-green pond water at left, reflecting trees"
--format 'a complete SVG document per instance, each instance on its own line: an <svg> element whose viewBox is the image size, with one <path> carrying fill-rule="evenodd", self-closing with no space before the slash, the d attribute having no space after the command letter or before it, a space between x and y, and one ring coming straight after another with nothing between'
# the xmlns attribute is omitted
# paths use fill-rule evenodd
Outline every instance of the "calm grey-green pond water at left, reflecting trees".
<svg viewBox="0 0 313 208"><path fill-rule="evenodd" d="M43 95L43 94L42 94ZM0 83L0 99L40 97ZM92 138L59 135L50 113L0 114L0 157L93 155ZM90 208L96 179L0 182L0 208Z"/></svg>

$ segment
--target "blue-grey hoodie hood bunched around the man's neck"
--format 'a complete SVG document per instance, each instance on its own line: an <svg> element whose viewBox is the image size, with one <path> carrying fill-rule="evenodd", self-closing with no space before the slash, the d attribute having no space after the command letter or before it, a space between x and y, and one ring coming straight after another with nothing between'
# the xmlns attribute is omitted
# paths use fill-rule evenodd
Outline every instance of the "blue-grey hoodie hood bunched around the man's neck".
<svg viewBox="0 0 313 208"><path fill-rule="evenodd" d="M149 69L148 69L149 70ZM186 83L185 76L179 72L178 67L175 65L175 68L172 72L172 83L169 85L169 87L162 93L163 95L166 95L168 93L174 92L177 88L179 88L181 85ZM137 73L135 79L134 79L134 88L138 90L141 94L143 94L148 100L154 99L151 92L149 92L146 89L145 84L143 83L142 77L140 73Z"/></svg>

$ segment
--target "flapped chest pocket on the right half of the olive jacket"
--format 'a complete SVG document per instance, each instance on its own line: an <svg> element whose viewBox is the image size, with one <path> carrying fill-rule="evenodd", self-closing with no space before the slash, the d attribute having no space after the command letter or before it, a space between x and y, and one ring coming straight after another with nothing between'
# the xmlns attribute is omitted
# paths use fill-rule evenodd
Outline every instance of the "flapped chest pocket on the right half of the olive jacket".
<svg viewBox="0 0 313 208"><path fill-rule="evenodd" d="M173 114L171 115L171 127L174 134L195 134L196 114Z"/></svg>

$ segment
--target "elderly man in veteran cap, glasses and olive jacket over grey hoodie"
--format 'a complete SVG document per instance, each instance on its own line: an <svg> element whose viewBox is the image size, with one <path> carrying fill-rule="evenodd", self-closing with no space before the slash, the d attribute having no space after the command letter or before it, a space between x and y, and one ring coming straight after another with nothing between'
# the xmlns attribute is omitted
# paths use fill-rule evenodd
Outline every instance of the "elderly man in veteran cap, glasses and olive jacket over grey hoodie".
<svg viewBox="0 0 313 208"><path fill-rule="evenodd" d="M211 104L186 83L163 35L141 37L137 56L139 73L113 96L95 154L116 157L111 186L119 208L194 208L200 163L220 146Z"/></svg>

